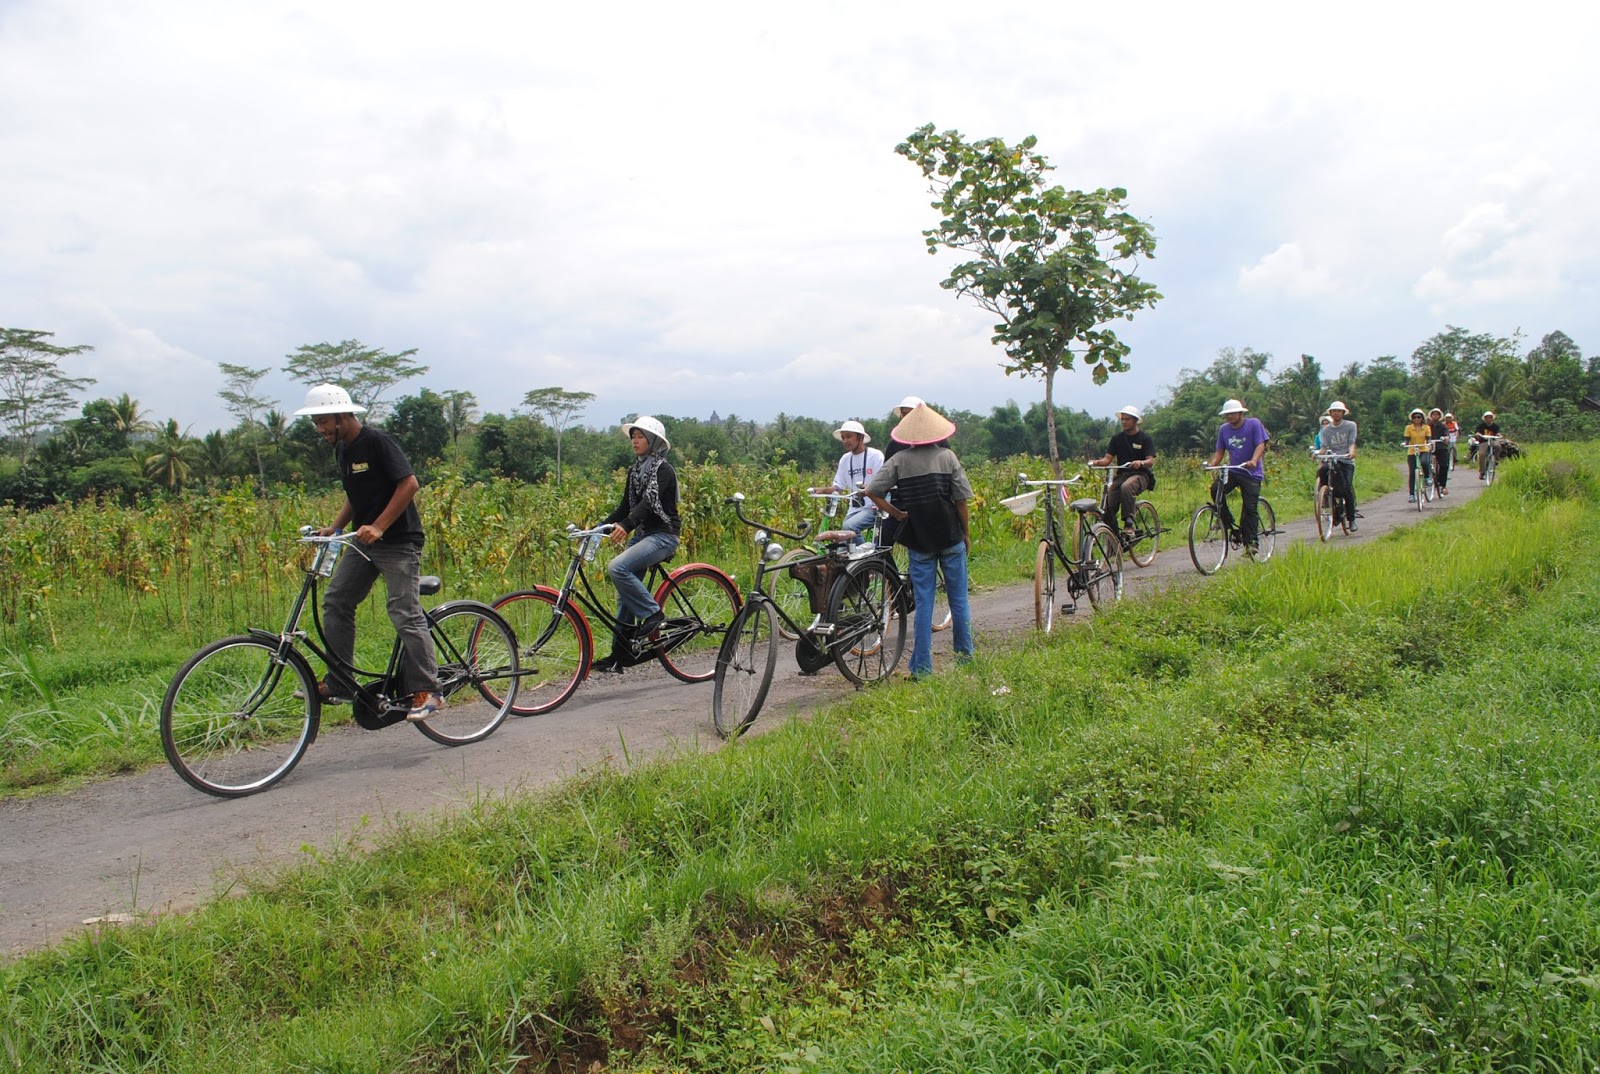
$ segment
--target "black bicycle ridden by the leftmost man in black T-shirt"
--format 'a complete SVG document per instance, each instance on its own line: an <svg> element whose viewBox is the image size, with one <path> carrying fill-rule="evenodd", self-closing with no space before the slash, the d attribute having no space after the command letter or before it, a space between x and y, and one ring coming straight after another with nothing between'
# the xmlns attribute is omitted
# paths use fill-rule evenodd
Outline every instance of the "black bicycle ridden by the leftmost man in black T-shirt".
<svg viewBox="0 0 1600 1074"><path fill-rule="evenodd" d="M178 671L162 699L162 751L173 771L206 794L240 797L266 791L293 771L317 741L323 701L301 645L328 666L331 679L355 685L350 704L358 727L376 731L405 720L411 711L398 637L381 672L347 664L326 648L317 587L333 575L346 549L365 555L355 535L317 536L312 527L302 527L299 539L314 554L304 565L306 578L283 629L250 629L211 642ZM440 587L435 576L421 579L424 597ZM320 645L301 629L307 607ZM491 607L477 600L451 600L424 615L434 637L443 704L414 727L445 746L488 738L517 699L517 635Z"/></svg>

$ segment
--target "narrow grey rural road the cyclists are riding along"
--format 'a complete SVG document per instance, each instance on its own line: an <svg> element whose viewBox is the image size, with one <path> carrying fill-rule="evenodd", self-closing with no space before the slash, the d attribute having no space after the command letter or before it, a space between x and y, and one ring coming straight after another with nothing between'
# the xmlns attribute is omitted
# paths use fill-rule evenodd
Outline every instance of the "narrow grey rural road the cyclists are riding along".
<svg viewBox="0 0 1600 1074"><path fill-rule="evenodd" d="M1448 499L1429 504L1421 515L1403 491L1362 504L1360 533L1333 544L1371 541L1482 491L1470 471L1459 479ZM1301 490L1275 487L1267 499L1283 506L1291 495ZM1171 531L1155 563L1146 570L1130 565L1130 597L1203 581L1184 544L1187 519L1168 519L1166 525ZM1283 530L1280 547L1315 541L1309 520ZM1230 557L1226 570L1253 567ZM986 640L1030 631L1032 586L974 594L973 619L979 653ZM936 635L936 651L942 664L949 634ZM789 651L778 667L755 733L850 693L830 667L800 677ZM160 767L70 794L0 802L0 957L54 943L91 917L184 911L240 892L262 869L298 861L306 847L360 842L398 821L606 765L718 749L710 691L710 683L683 685L646 666L590 680L554 714L509 720L477 746L435 746L405 723L384 731L330 731L282 784L246 799L211 799Z"/></svg>

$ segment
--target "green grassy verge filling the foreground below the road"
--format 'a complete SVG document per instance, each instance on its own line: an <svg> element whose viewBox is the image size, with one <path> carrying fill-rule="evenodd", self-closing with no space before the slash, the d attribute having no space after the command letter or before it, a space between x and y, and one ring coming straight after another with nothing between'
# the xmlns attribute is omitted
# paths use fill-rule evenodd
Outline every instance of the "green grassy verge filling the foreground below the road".
<svg viewBox="0 0 1600 1074"><path fill-rule="evenodd" d="M0 968L22 1071L1600 1063L1600 453ZM766 719L778 719L771 712Z"/></svg>

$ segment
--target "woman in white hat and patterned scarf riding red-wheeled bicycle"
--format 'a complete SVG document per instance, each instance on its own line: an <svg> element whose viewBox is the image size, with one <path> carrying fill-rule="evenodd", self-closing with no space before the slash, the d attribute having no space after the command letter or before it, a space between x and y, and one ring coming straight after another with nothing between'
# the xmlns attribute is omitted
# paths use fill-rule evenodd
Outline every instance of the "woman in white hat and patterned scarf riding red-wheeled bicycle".
<svg viewBox="0 0 1600 1074"><path fill-rule="evenodd" d="M618 544L627 539L627 549L618 552L605 571L616 586L618 623L635 637L643 637L666 619L645 587L645 573L678 551L683 522L678 519L678 475L667 463L672 443L666 426L640 415L622 423L622 435L634 445L634 464L622 483L622 501L600 525L616 525L611 539ZM611 653L597 659L594 671L622 671L626 650L626 639L611 639Z"/></svg>

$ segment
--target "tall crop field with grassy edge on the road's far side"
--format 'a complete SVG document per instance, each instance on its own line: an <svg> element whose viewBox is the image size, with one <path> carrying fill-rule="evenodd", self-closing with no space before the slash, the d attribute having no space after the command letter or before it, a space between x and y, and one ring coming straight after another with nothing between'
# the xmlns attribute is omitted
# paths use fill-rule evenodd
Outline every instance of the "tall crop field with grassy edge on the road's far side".
<svg viewBox="0 0 1600 1074"><path fill-rule="evenodd" d="M1309 493L1286 491L1310 487L1306 459L1274 456L1272 466L1269 491L1285 490L1274 495L1278 517L1307 514ZM1032 576L1043 512L1014 519L997 506L1024 467L1048 472L1027 459L973 467L978 586ZM1366 495L1395 487L1390 466L1366 471ZM685 543L675 562L707 560L750 578L755 546L723 504L728 493L744 491L757 517L792 527L816 506L805 487L829 479L685 466ZM619 495L614 482L557 490L445 479L422 495L424 571L445 578L440 599L493 600L555 584L570 554L565 523L605 517ZM1163 463L1155 503L1168 525L1181 525L1203 499L1195 459ZM338 503L334 493L256 499L237 488L138 509L0 511L0 797L160 763L160 706L173 672L213 639L246 626L280 629L301 579L296 528L331 519ZM358 658L382 666L394 634L381 600L363 605L358 637Z"/></svg>

